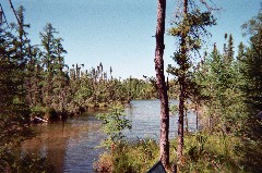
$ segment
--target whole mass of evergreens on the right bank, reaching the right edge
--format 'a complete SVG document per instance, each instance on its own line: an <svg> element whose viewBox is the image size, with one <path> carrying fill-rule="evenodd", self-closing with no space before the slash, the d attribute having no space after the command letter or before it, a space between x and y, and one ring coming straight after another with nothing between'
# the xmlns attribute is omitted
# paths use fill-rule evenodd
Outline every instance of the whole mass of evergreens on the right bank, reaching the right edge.
<svg viewBox="0 0 262 173"><path fill-rule="evenodd" d="M239 139L234 146L234 153L229 156L227 151L226 157L238 156L240 161L225 161L225 164L242 164L246 171L254 172L261 171L257 158L262 155L259 149L262 144L259 115L262 111L261 16L259 12L242 25L249 42L246 46L240 42L237 53L234 38L227 34L223 51L214 45L212 52L205 52L201 62L192 69L190 81L194 86L189 87L193 94L189 98L195 104L193 108L199 108L202 125L210 136L223 134L224 138Z"/></svg>

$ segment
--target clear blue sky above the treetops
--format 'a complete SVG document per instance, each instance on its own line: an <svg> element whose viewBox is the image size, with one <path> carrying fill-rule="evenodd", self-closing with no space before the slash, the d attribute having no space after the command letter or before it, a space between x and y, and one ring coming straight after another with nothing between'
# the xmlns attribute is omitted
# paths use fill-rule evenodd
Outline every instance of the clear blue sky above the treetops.
<svg viewBox="0 0 262 173"><path fill-rule="evenodd" d="M195 0L198 3L198 0ZM257 15L261 0L213 0L217 25L210 32L207 47L216 42L223 47L224 34L233 34L235 47L247 41L240 26ZM8 22L14 16L8 0L1 0ZM66 63L84 63L85 69L100 62L114 76L127 78L130 75L142 78L155 76L154 54L156 28L156 0L13 0L14 7L24 5L25 20L31 24L29 38L40 42L39 32L51 23L63 38L68 51ZM167 0L166 28L176 10L177 0ZM165 37L165 64L171 60L176 44L172 37Z"/></svg>

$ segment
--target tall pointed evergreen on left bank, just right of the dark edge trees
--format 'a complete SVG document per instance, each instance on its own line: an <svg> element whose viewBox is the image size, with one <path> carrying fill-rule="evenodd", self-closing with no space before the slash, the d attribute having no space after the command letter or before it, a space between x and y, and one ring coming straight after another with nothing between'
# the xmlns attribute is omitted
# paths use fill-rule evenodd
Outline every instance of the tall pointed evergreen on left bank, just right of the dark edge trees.
<svg viewBox="0 0 262 173"><path fill-rule="evenodd" d="M43 103L45 107L55 109L56 112L64 113L67 104L67 74L63 72L66 66L63 54L67 51L62 47L62 39L56 38L58 34L50 23L40 33L43 65ZM78 78L79 79L79 78Z"/></svg>

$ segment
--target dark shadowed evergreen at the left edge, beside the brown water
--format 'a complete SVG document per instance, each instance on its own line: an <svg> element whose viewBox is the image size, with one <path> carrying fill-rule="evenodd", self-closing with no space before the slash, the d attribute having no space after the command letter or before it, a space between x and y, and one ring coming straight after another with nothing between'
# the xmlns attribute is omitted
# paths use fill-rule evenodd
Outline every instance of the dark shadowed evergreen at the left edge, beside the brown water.
<svg viewBox="0 0 262 173"><path fill-rule="evenodd" d="M27 57L23 40L22 33L15 36L12 30L4 28L3 25L0 26L0 171L2 172L7 171L2 169L14 166L10 155L14 152L16 145L33 135L28 125L29 109L25 92Z"/></svg>

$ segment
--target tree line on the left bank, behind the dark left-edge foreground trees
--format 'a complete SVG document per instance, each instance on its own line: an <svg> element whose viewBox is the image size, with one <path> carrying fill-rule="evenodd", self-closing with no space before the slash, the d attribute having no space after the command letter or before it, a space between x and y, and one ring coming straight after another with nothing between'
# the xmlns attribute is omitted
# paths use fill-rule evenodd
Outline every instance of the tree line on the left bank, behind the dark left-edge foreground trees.
<svg viewBox="0 0 262 173"><path fill-rule="evenodd" d="M9 59L23 65L23 74L15 73L13 76L21 79L24 103L32 116L67 116L88 108L107 107L112 102L124 103L132 99L158 97L152 77L116 78L112 69L107 72L102 63L91 70L84 70L84 64L69 67L64 63L67 50L62 46L63 39L58 37L59 33L50 23L39 33L40 44L31 46L26 33L29 25L24 23L24 9L21 7L16 13L21 24L12 24L12 28L1 25L2 38L10 39L10 45L3 40L1 46L3 49L15 47L23 60Z"/></svg>

